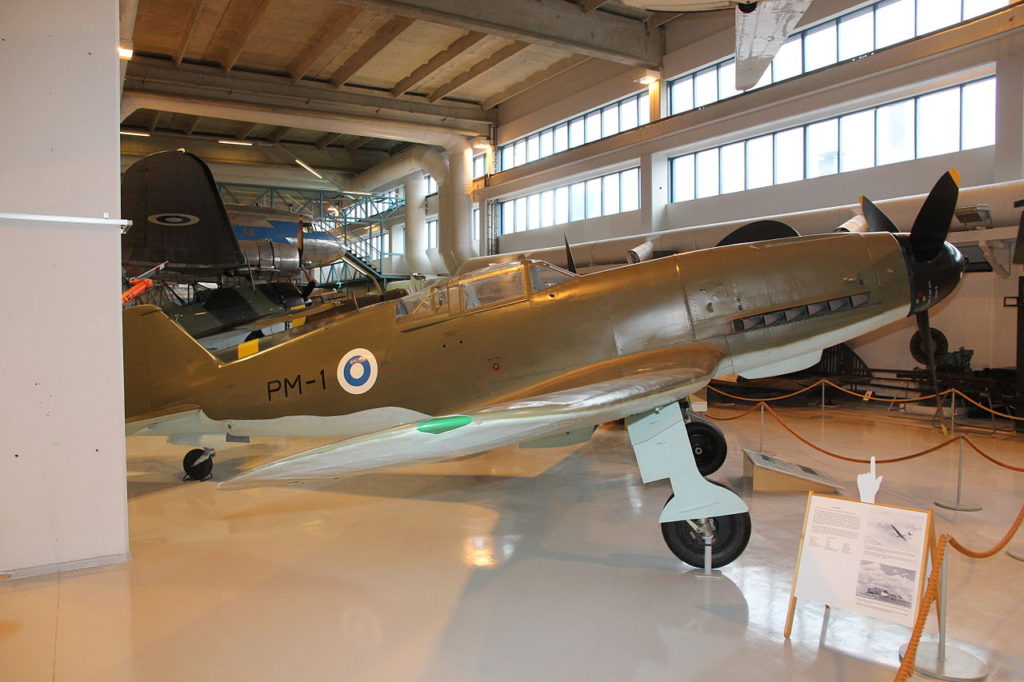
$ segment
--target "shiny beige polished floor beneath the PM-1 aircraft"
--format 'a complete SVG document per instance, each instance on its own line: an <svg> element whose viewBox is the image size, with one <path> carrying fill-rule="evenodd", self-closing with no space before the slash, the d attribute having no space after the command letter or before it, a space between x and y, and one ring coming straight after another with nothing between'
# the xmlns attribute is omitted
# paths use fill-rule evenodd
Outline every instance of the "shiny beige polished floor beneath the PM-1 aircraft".
<svg viewBox="0 0 1024 682"><path fill-rule="evenodd" d="M870 406L782 415L850 456L943 438L925 417ZM182 449L129 438L132 559L0 583L0 680L891 680L902 626L837 609L822 640L822 606L801 603L783 638L806 496L752 493L741 449L822 469L854 498L863 467L756 414L722 425L730 457L715 477L742 492L754 532L718 581L664 546L667 484L640 483L621 427L582 446L248 491L181 482ZM1020 435L972 438L1024 464ZM313 442L222 451L215 478ZM964 499L984 509L948 512L932 503L953 498L956 455L881 467L878 502L932 508L940 532L987 548L1024 474L968 453ZM1024 553L1024 534L1011 548ZM1024 562L950 561L951 642L990 679L1024 679Z"/></svg>

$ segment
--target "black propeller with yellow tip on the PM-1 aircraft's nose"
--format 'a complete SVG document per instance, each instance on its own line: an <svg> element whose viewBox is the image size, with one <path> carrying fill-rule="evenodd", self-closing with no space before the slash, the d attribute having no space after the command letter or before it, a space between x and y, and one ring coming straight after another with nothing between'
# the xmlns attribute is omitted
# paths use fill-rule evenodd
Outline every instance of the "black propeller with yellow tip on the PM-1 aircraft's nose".
<svg viewBox="0 0 1024 682"><path fill-rule="evenodd" d="M928 371L936 395L936 418L940 422L944 416L942 400L938 398L939 374L928 308L951 291L963 274L963 256L951 247L953 253L950 253L945 246L958 196L959 175L954 170L943 173L918 211L910 235L899 235L896 238L903 247L904 257L910 268L913 296L910 310L914 313L922 348L928 357ZM866 197L860 198L860 207L870 231L899 231L889 216ZM943 254L945 257L940 258ZM951 275L955 275L955 280L950 285Z"/></svg>

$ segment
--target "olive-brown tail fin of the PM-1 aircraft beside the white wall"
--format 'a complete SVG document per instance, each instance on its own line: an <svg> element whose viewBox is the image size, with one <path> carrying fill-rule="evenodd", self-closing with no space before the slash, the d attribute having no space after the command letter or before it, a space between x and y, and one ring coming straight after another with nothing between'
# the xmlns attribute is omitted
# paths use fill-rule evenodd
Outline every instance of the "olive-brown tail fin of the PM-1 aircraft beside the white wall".
<svg viewBox="0 0 1024 682"><path fill-rule="evenodd" d="M196 407L217 358L155 305L125 309L122 325L126 419Z"/></svg>

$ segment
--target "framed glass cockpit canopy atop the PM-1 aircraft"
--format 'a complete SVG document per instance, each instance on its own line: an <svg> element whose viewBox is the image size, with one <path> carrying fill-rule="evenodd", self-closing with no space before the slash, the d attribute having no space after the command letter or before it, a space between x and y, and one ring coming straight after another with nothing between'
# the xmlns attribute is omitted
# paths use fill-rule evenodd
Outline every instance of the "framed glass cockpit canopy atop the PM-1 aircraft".
<svg viewBox="0 0 1024 682"><path fill-rule="evenodd" d="M408 323L474 312L525 300L577 276L544 261L498 263L410 294L395 314Z"/></svg>

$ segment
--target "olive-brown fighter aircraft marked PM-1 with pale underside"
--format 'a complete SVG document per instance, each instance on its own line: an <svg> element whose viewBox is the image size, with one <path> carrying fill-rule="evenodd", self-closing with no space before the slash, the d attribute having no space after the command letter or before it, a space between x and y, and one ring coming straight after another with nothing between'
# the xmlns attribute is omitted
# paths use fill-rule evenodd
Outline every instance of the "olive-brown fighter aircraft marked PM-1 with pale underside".
<svg viewBox="0 0 1024 682"><path fill-rule="evenodd" d="M128 433L210 445L330 444L220 483L243 487L521 443L567 444L626 419L641 478L668 478L663 535L683 561L743 551L748 507L698 471L679 400L713 377L810 367L822 349L928 308L957 286L944 175L907 233L866 199L870 230L716 247L587 275L493 265L220 361L154 306L124 311ZM923 335L930 338L929 334ZM266 346L263 343L266 342ZM210 464L209 449L190 453ZM209 469L207 469L209 471Z"/></svg>

